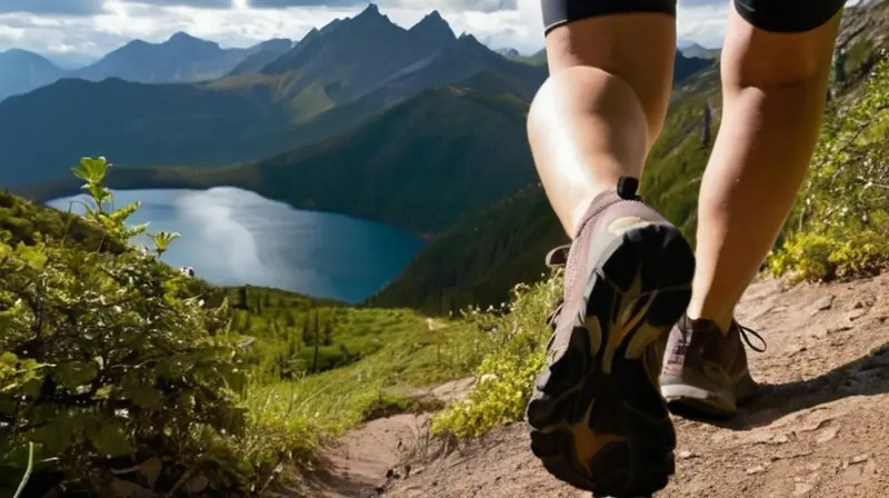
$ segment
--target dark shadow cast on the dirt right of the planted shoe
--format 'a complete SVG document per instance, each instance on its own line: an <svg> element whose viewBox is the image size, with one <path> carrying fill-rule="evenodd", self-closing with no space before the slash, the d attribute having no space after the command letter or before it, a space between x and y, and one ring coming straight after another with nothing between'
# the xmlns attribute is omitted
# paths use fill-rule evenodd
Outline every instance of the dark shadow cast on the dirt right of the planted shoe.
<svg viewBox="0 0 889 498"><path fill-rule="evenodd" d="M738 409L730 420L705 420L678 414L703 424L733 430L762 427L796 411L852 396L889 392L889 342L867 356L808 380L762 385L757 397Z"/></svg>

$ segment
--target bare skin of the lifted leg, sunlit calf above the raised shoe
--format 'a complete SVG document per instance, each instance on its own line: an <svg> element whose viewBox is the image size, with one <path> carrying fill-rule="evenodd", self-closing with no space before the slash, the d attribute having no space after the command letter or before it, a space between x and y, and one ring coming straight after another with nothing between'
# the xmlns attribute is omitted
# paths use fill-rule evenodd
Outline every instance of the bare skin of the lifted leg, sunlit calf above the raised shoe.
<svg viewBox="0 0 889 498"><path fill-rule="evenodd" d="M596 196L620 177L639 178L670 98L676 0L622 3L542 0L550 77L531 104L528 137L569 237ZM569 17L575 4L592 16ZM618 8L640 12L612 13Z"/></svg>

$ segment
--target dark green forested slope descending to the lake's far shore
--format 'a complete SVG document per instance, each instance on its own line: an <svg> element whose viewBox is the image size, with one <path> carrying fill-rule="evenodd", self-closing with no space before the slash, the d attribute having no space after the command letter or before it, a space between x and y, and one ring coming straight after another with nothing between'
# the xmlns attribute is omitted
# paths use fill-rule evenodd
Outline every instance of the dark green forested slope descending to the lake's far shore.
<svg viewBox="0 0 889 498"><path fill-rule="evenodd" d="M266 160L212 169L116 168L108 185L241 187L299 208L436 233L537 181L525 145L527 111L509 81L486 71ZM79 187L64 177L22 193L50 199Z"/></svg>

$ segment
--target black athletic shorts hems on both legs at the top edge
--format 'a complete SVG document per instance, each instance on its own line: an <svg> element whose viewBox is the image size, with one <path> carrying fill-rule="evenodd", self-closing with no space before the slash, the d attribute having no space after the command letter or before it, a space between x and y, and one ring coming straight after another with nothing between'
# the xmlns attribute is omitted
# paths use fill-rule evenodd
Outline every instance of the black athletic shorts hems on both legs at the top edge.
<svg viewBox="0 0 889 498"><path fill-rule="evenodd" d="M580 19L613 13L660 12L676 16L677 0L540 0L545 32ZM775 32L810 31L829 21L846 0L735 0L755 27Z"/></svg>

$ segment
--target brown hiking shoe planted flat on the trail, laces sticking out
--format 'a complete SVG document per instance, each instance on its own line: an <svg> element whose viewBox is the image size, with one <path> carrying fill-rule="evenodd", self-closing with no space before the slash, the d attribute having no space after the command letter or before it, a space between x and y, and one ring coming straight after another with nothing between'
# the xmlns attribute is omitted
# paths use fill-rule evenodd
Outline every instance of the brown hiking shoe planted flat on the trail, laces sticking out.
<svg viewBox="0 0 889 498"><path fill-rule="evenodd" d="M683 316L670 331L660 379L670 411L697 419L733 417L738 405L750 400L759 387L750 376L742 340L755 351L766 350L759 333L735 320L722 332L710 320Z"/></svg>

